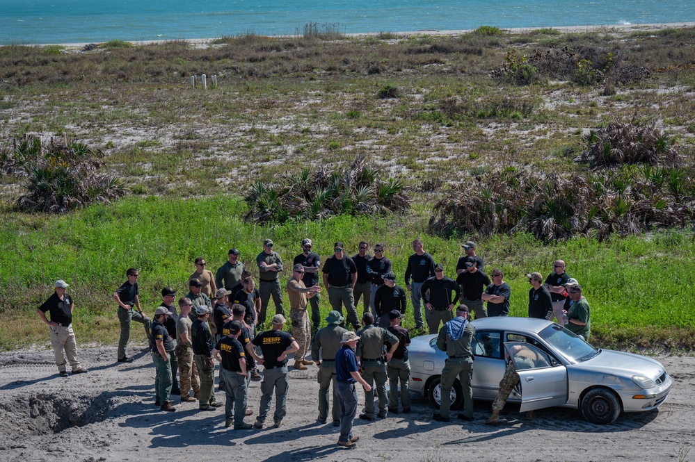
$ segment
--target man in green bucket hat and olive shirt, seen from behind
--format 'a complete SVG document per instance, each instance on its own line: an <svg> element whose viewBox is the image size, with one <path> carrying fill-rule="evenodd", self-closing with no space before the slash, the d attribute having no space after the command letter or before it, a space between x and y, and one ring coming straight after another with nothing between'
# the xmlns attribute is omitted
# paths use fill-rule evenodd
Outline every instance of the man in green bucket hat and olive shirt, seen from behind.
<svg viewBox="0 0 695 462"><path fill-rule="evenodd" d="M338 311L331 311L326 317L328 326L319 330L314 336L311 344L311 358L319 368L317 381L319 382L319 417L317 420L322 424L328 418L328 388L333 383L333 406L331 416L333 417L333 427L340 426L340 406L335 390L335 355L342 347L343 333L347 329L340 327L345 320ZM319 356L321 352L321 356Z"/></svg>

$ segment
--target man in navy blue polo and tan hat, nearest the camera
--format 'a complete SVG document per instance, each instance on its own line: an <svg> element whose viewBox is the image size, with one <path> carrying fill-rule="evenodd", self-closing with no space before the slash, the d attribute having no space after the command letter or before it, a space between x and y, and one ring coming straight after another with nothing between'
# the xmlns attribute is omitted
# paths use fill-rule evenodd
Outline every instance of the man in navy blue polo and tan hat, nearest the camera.
<svg viewBox="0 0 695 462"><path fill-rule="evenodd" d="M335 389L340 401L340 436L338 445L353 449L359 436L352 436L352 425L357 415L357 389L355 382L361 383L365 391L372 390L369 383L358 372L355 347L360 337L353 331L343 333L343 346L335 354Z"/></svg>

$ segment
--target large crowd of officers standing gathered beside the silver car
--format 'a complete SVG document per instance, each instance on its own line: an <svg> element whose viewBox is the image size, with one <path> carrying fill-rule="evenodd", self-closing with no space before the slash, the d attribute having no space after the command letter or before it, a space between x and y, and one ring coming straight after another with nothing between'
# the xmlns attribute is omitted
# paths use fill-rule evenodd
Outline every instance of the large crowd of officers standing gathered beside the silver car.
<svg viewBox="0 0 695 462"><path fill-rule="evenodd" d="M399 399L401 411L410 412L410 365L406 348L410 334L401 326L401 319L406 315L407 290L415 329L423 329L426 322L430 333L439 333L438 347L449 355L442 371L442 408L434 418L449 419L446 397L459 377L464 390L460 417L472 420L470 340L474 328L470 320L509 314L511 288L504 282L502 271L493 270L490 280L484 272L483 258L476 254L475 243L468 241L463 245L465 254L458 259L454 280L446 277L443 265L435 263L424 251L422 240L415 239L414 253L408 258L404 274L404 289L397 284L392 262L385 256L381 243L374 246L371 256L368 242L362 241L358 254L350 257L346 256L342 242L335 242L333 255L323 267L312 245L311 239L301 241L302 252L294 258L292 274L285 285L291 333L283 330L287 323L280 283L283 265L280 255L273 251L271 239L264 240L263 250L256 257L258 288L252 274L239 261L237 249L230 249L228 261L214 275L207 270L205 258L199 257L194 262L195 272L189 277L189 293L175 304L176 291L163 288L162 302L152 320L141 308L138 270L129 268L127 281L112 295L118 304L121 326L118 362L133 361L126 355L131 322L143 324L157 370L155 404L163 411L175 411L170 397L180 395L182 402L198 401L201 411L214 411L223 405L216 402L214 393L217 361L221 365L219 387L226 395L225 426L250 429L252 425L243 421L253 414L246 398L249 381L262 380L262 398L253 427L264 426L273 392L276 400L273 426L279 427L286 414L288 357L294 354L296 370L306 370L314 364L319 368L317 420L321 423L328 421L329 388L333 384L330 417L333 425L341 427L338 444L354 447L358 439L351 433L357 409L356 383L365 388L365 412L359 415L360 419L374 420L397 413ZM319 268L323 287L319 285ZM554 262L553 272L545 281L538 272L527 277L532 285L529 317L547 320L554 317L558 324L589 337L589 304L582 297L581 286L566 274L563 261ZM64 281L56 281L55 287L56 292L38 308L38 314L51 328L56 365L66 377L64 349L72 373L87 372L77 361L71 325L72 297L65 293ZM320 329L319 299L323 290L328 292L333 311L325 319L328 325ZM275 315L270 329L257 332L257 328L264 327L271 297ZM364 310L358 319L356 307L360 299ZM457 304L458 308L454 309ZM51 320L45 315L47 311ZM349 331L345 324L353 330ZM258 365L264 366L262 376ZM390 396L386 395L387 380Z"/></svg>

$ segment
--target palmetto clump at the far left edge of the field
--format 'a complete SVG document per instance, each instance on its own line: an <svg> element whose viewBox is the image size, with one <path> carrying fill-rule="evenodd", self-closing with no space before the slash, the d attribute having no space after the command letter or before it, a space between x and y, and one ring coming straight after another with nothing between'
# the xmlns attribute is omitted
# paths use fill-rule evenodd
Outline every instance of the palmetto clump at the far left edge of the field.
<svg viewBox="0 0 695 462"><path fill-rule="evenodd" d="M25 136L0 151L0 174L26 176L26 194L17 199L21 210L65 213L125 195L118 179L97 172L104 165L103 156L67 137L46 143Z"/></svg>

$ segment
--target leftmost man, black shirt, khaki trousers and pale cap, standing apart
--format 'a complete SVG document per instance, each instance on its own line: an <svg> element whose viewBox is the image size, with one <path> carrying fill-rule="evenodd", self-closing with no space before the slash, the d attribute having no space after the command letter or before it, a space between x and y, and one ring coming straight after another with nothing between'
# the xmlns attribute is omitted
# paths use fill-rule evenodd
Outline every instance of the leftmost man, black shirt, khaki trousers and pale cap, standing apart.
<svg viewBox="0 0 695 462"><path fill-rule="evenodd" d="M83 374L87 370L77 360L77 340L75 340L75 334L72 331L74 302L72 297L65 293L67 288L65 281L58 279L54 287L56 291L37 308L36 313L38 313L41 320L48 325L51 331L51 346L53 347L56 366L58 366L58 372L61 374L61 377L67 377L65 356L67 356L67 361L70 361L72 373ZM51 320L48 320L46 317L47 311L51 315ZM65 354L63 354L63 350Z"/></svg>

